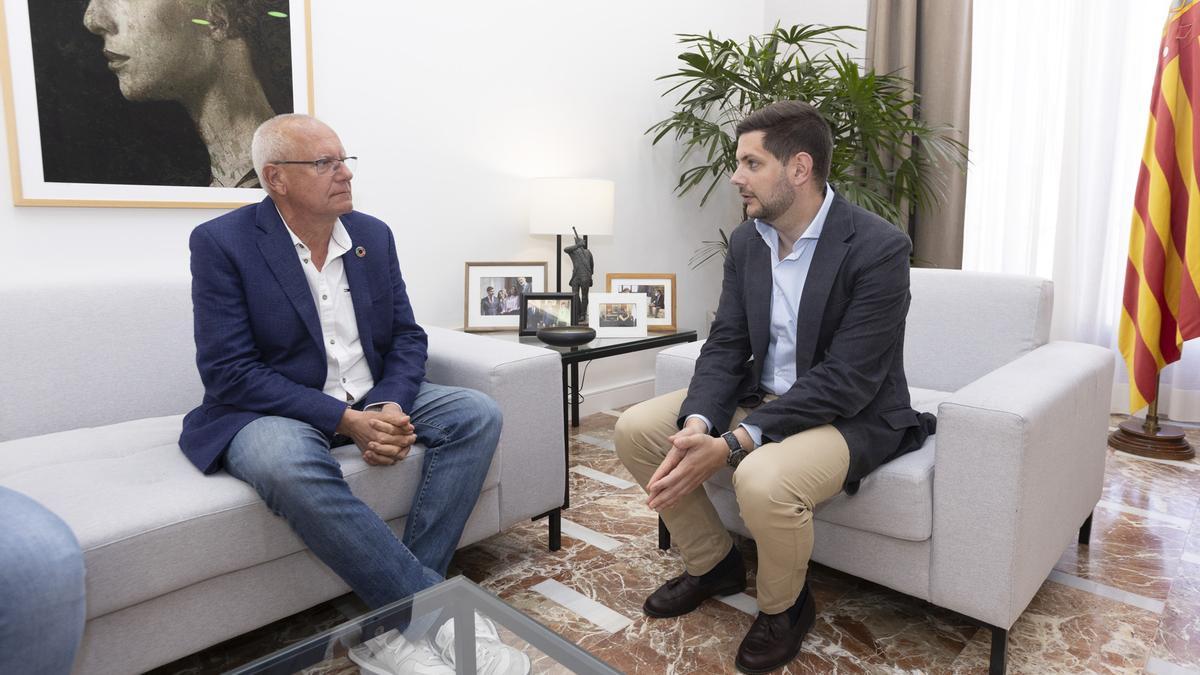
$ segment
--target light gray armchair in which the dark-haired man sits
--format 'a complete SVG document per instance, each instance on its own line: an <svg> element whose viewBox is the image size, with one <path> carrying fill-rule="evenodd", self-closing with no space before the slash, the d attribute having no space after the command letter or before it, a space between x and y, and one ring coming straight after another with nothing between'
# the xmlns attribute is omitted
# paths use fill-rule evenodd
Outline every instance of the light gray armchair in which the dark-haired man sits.
<svg viewBox="0 0 1200 675"><path fill-rule="evenodd" d="M1075 532L1086 543L1104 478L1112 354L1048 342L1049 281L912 270L905 374L937 434L815 513L812 558L1007 631ZM701 342L659 353L655 393L685 388ZM750 536L722 470L704 488ZM664 538L660 544L666 544Z"/></svg>

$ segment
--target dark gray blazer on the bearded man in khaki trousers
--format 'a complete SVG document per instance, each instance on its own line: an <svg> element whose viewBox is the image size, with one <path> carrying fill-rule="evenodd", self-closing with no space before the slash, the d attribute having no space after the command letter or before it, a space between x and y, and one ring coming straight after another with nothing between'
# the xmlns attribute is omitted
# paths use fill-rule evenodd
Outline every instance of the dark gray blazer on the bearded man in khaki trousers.
<svg viewBox="0 0 1200 675"><path fill-rule="evenodd" d="M834 195L800 297L796 384L762 404L772 253L754 221L739 225L678 424L702 414L721 434L739 405L754 408L744 422L762 429L763 442L833 424L850 446L851 494L876 467L919 448L936 420L912 410L904 375L911 250L893 225Z"/></svg>

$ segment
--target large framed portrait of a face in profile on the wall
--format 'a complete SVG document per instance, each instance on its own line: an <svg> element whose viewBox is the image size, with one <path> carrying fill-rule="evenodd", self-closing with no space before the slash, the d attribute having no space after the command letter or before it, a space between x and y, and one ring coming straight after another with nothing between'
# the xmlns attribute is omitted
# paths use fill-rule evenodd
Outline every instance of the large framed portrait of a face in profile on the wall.
<svg viewBox="0 0 1200 675"><path fill-rule="evenodd" d="M308 2L0 0L13 202L262 199L254 129L313 109Z"/></svg>

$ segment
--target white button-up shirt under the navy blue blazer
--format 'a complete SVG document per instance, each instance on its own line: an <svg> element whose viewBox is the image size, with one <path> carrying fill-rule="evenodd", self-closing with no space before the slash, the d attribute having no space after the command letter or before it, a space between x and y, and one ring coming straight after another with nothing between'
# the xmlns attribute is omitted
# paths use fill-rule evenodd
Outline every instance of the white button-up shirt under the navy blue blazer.
<svg viewBox="0 0 1200 675"><path fill-rule="evenodd" d="M283 214L280 214L283 220ZM287 221L283 222L287 226ZM371 366L367 365L359 341L359 323L354 315L350 285L346 280L342 256L350 250L350 234L341 219L334 223L329 237L329 251L320 270L312 262L311 251L288 227L288 235L295 245L304 269L308 291L320 319L320 341L325 347L325 386L322 390L340 401L354 404L374 387Z"/></svg>

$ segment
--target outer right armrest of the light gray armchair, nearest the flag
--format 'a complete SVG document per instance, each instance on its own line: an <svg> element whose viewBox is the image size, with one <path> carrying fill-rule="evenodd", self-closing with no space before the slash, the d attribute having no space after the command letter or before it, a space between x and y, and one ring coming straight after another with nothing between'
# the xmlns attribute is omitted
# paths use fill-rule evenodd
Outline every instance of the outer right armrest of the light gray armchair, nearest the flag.
<svg viewBox="0 0 1200 675"><path fill-rule="evenodd" d="M1044 345L938 407L930 593L1009 628L1099 500L1112 353Z"/></svg>

